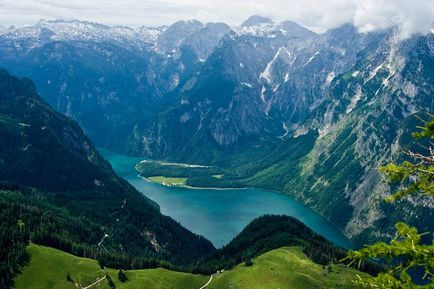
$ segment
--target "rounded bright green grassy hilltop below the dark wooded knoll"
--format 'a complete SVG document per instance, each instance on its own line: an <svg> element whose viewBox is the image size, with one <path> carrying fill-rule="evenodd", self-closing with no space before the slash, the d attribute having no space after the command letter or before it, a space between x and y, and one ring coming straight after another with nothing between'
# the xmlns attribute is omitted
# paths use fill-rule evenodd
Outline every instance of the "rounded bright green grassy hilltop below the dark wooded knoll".
<svg viewBox="0 0 434 289"><path fill-rule="evenodd" d="M247 267L216 275L208 289L355 289L352 280L363 274L342 265L321 266L309 260L298 247L283 247L265 253Z"/></svg>

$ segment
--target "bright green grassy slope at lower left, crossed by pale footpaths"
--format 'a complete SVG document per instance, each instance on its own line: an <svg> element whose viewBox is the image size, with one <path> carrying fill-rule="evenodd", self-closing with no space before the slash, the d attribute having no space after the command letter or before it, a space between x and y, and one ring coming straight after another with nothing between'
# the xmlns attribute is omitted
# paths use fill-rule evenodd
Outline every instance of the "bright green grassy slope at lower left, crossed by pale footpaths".
<svg viewBox="0 0 434 289"><path fill-rule="evenodd" d="M209 277L173 272L165 269L131 270L126 272L129 281L118 280L118 270L104 271L98 262L79 258L57 249L30 244L27 248L31 261L23 268L23 273L15 279L16 289L74 289L76 286L67 281L67 274L74 282L86 287L106 273L116 288L200 288ZM107 279L92 288L110 289Z"/></svg>

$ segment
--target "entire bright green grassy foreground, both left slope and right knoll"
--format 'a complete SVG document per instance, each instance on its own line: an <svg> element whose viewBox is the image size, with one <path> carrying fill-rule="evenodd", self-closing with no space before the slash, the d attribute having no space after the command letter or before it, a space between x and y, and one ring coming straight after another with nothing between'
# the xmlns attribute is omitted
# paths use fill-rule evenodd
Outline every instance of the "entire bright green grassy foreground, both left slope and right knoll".
<svg viewBox="0 0 434 289"><path fill-rule="evenodd" d="M57 249L30 244L31 261L15 279L15 289L74 289L67 275L82 287L94 283L106 273L116 288L194 289L202 287L208 276L173 272L165 269L131 270L128 281L118 280L118 271L101 269L95 260L79 258ZM284 247L270 251L253 260L247 267L240 264L233 270L213 277L209 289L225 288L355 288L351 280L359 273L344 266L313 263L298 247ZM360 274L360 273L359 273ZM110 289L104 279L92 288Z"/></svg>

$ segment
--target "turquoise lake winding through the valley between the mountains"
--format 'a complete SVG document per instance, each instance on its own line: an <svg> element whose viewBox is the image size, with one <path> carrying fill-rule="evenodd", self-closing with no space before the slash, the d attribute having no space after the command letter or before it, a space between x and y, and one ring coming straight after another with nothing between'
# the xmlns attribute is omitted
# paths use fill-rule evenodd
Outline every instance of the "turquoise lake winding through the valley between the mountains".
<svg viewBox="0 0 434 289"><path fill-rule="evenodd" d="M350 241L325 218L291 197L259 189L189 189L166 187L138 177L135 165L143 158L99 149L115 172L160 205L161 212L190 231L222 247L255 217L282 214L295 217L335 244L350 248Z"/></svg>

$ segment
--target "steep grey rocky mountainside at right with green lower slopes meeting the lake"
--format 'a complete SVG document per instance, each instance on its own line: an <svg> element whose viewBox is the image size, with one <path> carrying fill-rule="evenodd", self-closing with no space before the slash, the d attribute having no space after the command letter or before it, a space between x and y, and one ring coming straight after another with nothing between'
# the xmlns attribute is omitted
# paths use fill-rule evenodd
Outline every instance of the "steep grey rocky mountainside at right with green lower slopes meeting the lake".
<svg viewBox="0 0 434 289"><path fill-rule="evenodd" d="M434 110L433 35L405 42L396 35L363 50L260 166L241 167L245 184L291 194L361 243L391 237L402 218L432 231L432 201L410 198L390 210L382 200L390 189L379 166L402 159L419 125L415 115ZM297 155L299 145L306 154Z"/></svg>

